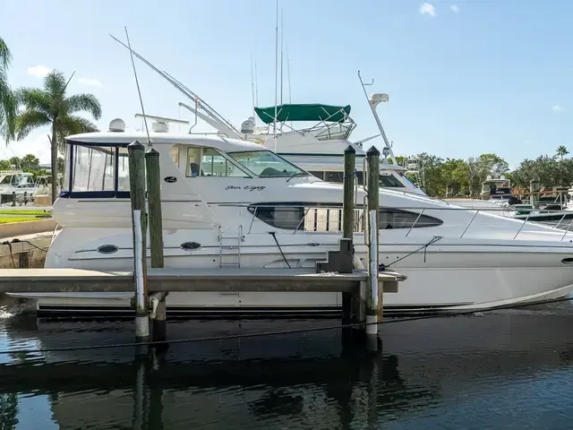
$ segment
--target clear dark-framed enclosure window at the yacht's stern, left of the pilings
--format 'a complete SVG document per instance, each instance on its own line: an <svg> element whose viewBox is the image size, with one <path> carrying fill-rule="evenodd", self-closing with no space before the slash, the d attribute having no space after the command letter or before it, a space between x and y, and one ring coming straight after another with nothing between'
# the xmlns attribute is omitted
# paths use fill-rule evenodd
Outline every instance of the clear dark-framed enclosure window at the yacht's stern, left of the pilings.
<svg viewBox="0 0 573 430"><path fill-rule="evenodd" d="M72 192L115 191L115 147L73 148Z"/></svg>

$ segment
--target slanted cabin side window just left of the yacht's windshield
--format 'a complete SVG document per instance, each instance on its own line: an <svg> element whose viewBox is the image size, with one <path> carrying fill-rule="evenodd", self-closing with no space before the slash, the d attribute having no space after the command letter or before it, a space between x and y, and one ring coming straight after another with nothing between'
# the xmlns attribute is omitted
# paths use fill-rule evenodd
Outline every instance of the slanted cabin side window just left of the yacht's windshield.
<svg viewBox="0 0 573 430"><path fill-rule="evenodd" d="M235 166L213 148L188 148L186 175L187 177L250 177L244 170Z"/></svg>

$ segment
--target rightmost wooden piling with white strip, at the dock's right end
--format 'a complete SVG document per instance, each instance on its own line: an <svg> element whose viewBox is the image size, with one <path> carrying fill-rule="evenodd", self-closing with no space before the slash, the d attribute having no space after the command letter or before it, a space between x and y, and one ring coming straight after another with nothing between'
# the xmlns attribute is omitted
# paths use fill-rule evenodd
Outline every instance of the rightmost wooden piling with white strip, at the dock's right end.
<svg viewBox="0 0 573 430"><path fill-rule="evenodd" d="M366 284L366 341L371 350L378 349L378 324L381 322L381 294L378 292L378 235L380 151L373 146L366 151L368 165L368 280ZM379 319L380 316L380 319Z"/></svg>

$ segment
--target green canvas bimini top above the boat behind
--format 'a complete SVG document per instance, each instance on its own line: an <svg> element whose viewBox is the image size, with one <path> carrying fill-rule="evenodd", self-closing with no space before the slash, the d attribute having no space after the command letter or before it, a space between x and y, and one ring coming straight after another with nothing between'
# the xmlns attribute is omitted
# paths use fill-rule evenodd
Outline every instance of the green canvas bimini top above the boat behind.
<svg viewBox="0 0 573 430"><path fill-rule="evenodd" d="M275 107L255 107L257 115L265 124L275 120ZM344 123L350 115L350 105L331 106L316 104L305 105L278 105L277 121L329 121L332 123Z"/></svg>

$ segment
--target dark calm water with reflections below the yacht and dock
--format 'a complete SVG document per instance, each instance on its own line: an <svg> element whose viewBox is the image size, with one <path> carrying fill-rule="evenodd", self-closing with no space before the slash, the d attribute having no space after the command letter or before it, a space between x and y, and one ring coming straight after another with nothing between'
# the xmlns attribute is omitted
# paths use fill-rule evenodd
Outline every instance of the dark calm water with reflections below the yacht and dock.
<svg viewBox="0 0 573 430"><path fill-rule="evenodd" d="M130 322L48 322L0 305L0 349L133 340ZM338 321L173 321L174 339ZM339 331L0 356L0 429L571 428L573 308Z"/></svg>

